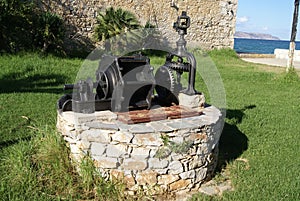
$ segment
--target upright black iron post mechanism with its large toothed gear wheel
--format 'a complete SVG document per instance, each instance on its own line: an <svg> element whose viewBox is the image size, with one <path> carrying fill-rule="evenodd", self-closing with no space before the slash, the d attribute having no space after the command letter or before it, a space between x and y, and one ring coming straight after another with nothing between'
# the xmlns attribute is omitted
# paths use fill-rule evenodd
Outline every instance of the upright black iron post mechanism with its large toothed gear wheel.
<svg viewBox="0 0 300 201"><path fill-rule="evenodd" d="M156 91L158 96L165 102L178 102L177 95L179 92L187 95L195 95L198 92L195 90L195 75L196 75L196 59L194 55L187 51L186 40L184 35L187 34L187 29L190 27L190 17L185 11L181 16L178 16L174 22L173 28L178 32L179 39L176 42L176 49L170 52L166 57L165 64L158 69L155 74ZM184 62L184 58L186 62ZM176 60L177 59L177 60ZM188 72L188 86L183 89L181 85L181 74Z"/></svg>

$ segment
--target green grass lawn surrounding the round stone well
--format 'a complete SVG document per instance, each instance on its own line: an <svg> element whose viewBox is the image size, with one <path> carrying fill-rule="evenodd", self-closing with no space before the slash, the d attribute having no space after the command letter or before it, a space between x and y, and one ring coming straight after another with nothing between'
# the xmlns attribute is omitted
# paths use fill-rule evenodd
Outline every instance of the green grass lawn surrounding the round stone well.
<svg viewBox="0 0 300 201"><path fill-rule="evenodd" d="M300 200L299 76L244 62L233 51L209 55L227 103L216 177L229 178L234 190L192 200ZM153 58L154 64L160 61ZM122 185L95 177L88 160L79 176L56 133L56 101L82 62L37 54L0 56L0 200L124 199ZM200 77L196 88L209 102Z"/></svg>

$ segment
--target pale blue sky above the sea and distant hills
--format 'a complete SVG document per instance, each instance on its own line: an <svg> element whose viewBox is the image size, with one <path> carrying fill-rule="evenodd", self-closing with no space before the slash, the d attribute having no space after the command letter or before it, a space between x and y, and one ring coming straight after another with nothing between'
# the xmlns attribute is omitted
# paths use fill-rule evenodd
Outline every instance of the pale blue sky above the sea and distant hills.
<svg viewBox="0 0 300 201"><path fill-rule="evenodd" d="M290 40L293 13L294 0L238 0L236 31L266 33ZM297 41L300 40L299 21Z"/></svg>

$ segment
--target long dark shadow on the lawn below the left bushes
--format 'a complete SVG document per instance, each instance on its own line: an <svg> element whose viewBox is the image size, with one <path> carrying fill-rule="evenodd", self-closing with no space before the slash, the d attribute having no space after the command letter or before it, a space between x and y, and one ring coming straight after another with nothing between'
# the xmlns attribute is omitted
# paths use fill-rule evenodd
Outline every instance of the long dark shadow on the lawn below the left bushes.
<svg viewBox="0 0 300 201"><path fill-rule="evenodd" d="M60 94L66 79L67 77L61 74L28 75L28 71L9 73L0 78L0 93L35 92Z"/></svg>

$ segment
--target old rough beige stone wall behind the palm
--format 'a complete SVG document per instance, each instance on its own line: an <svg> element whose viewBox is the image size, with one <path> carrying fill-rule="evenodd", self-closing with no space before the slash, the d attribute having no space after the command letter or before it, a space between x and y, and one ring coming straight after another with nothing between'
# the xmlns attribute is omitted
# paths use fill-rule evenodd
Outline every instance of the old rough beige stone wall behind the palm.
<svg viewBox="0 0 300 201"><path fill-rule="evenodd" d="M81 44L93 41L93 29L99 11L107 7L121 7L136 14L141 24L148 20L164 30L171 41L177 34L172 28L177 16L186 10L191 27L186 37L189 44L203 49L233 48L238 0L175 0L179 8L171 8L171 0L41 0L44 10L63 17L67 24L67 38ZM89 41L89 42L87 42Z"/></svg>

